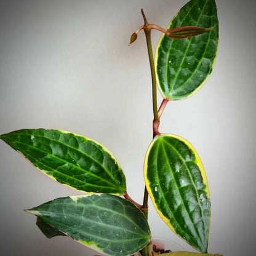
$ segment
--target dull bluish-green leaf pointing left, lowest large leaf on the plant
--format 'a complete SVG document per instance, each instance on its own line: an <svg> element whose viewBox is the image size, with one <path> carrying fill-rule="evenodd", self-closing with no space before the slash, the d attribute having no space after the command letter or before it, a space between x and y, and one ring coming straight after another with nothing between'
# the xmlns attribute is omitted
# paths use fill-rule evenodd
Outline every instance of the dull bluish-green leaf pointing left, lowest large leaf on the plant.
<svg viewBox="0 0 256 256"><path fill-rule="evenodd" d="M110 194L58 198L27 211L84 246L108 255L134 254L151 238L140 209Z"/></svg>

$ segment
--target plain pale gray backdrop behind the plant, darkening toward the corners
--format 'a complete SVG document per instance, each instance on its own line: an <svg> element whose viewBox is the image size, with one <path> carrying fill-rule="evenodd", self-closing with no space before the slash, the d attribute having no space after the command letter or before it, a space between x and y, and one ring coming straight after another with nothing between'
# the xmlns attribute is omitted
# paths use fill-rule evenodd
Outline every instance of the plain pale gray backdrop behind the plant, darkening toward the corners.
<svg viewBox="0 0 256 256"><path fill-rule="evenodd" d="M150 143L150 70L143 32L167 26L186 0L0 2L0 134L22 128L70 130L118 158L130 196L141 202ZM201 156L212 199L209 252L252 255L255 247L255 1L217 0L220 42L199 92L170 102L161 132L189 140ZM156 46L160 34L153 31ZM60 185L0 142L1 255L93 255L69 238L47 239L23 212L61 196ZM153 236L178 242L150 204Z"/></svg>

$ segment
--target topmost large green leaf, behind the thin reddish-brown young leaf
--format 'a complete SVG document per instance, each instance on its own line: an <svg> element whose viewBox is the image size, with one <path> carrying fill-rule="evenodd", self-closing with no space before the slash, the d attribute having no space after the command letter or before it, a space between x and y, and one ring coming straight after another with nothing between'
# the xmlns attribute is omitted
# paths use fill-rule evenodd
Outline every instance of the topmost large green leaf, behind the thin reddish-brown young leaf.
<svg viewBox="0 0 256 256"><path fill-rule="evenodd" d="M159 90L168 100L181 100L197 92L206 82L217 54L218 17L214 0L193 0L182 7L167 30L181 26L211 28L189 39L164 35L156 49Z"/></svg>

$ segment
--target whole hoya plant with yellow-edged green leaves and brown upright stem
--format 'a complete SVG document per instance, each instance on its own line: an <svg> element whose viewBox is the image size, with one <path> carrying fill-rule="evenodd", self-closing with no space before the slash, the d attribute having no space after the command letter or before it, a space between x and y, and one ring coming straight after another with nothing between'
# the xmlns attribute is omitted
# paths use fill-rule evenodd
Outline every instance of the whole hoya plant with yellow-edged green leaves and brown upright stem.
<svg viewBox="0 0 256 256"><path fill-rule="evenodd" d="M170 100L196 93L212 71L217 44L218 18L214 0L191 0L167 29L150 24L142 10L150 59L153 93L153 141L146 151L143 203L130 198L118 160L90 138L49 129L22 129L0 138L22 154L43 174L82 191L84 196L54 199L26 210L47 238L70 236L101 254L153 256L148 225L148 197L174 233L207 254L210 196L206 172L198 153L184 138L162 134L159 124ZM151 30L163 33L154 58ZM162 94L158 106L157 88ZM171 249L171 248L170 248ZM171 252L166 256L196 256Z"/></svg>

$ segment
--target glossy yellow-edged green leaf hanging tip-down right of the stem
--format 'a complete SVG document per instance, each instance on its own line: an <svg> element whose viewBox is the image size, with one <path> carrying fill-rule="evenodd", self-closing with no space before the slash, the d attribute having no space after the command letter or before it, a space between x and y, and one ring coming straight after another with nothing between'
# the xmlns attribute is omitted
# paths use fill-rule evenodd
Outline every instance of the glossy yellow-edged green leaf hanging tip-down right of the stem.
<svg viewBox="0 0 256 256"><path fill-rule="evenodd" d="M193 146L177 135L158 135L145 158L146 188L158 214L191 246L207 252L210 196Z"/></svg>

